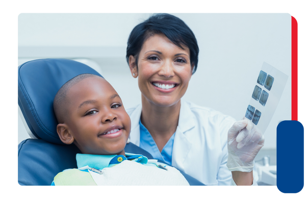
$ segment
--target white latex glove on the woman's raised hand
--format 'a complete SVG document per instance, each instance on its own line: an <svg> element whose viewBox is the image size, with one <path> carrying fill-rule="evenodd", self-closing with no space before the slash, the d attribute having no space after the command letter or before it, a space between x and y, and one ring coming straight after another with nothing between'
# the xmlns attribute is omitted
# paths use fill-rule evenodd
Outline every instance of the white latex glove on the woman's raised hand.
<svg viewBox="0 0 306 204"><path fill-rule="evenodd" d="M230 171L251 172L253 160L264 142L263 134L252 121L243 117L243 120L235 122L227 133L227 168Z"/></svg>

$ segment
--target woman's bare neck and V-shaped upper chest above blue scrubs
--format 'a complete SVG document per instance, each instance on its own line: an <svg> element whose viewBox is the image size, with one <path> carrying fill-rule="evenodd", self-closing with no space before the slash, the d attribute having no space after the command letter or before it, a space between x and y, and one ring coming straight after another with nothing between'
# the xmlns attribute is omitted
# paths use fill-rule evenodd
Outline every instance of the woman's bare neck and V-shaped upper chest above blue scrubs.
<svg viewBox="0 0 306 204"><path fill-rule="evenodd" d="M169 107L152 104L142 95L141 123L151 134L160 151L175 133L179 123L181 99Z"/></svg>

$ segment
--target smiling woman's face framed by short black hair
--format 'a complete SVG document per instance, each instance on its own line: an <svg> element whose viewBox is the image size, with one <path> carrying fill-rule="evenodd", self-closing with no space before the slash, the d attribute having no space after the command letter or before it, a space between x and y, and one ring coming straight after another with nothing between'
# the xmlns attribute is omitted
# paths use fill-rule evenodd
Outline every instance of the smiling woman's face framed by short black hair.
<svg viewBox="0 0 306 204"><path fill-rule="evenodd" d="M139 89L150 103L168 107L180 101L185 94L193 66L190 64L189 48L182 47L184 49L163 34L150 36L143 43L138 71L135 66L131 72L135 73L134 77L138 76Z"/></svg>

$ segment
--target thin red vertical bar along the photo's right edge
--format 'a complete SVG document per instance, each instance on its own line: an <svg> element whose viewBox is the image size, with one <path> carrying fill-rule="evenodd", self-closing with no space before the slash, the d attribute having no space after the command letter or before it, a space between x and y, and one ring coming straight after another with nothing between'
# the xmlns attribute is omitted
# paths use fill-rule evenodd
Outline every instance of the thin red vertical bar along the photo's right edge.
<svg viewBox="0 0 306 204"><path fill-rule="evenodd" d="M291 16L291 120L299 120L299 24Z"/></svg>

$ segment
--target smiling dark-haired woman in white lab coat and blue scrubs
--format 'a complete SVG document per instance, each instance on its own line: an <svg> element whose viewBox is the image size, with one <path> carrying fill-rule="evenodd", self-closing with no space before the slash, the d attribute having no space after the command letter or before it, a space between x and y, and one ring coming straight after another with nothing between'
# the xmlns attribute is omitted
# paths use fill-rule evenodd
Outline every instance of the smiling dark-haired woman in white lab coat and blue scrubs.
<svg viewBox="0 0 306 204"><path fill-rule="evenodd" d="M256 186L253 159L264 143L256 125L181 100L198 52L193 32L175 16L151 16L133 29L126 60L142 103L127 110L130 141L208 186Z"/></svg>

